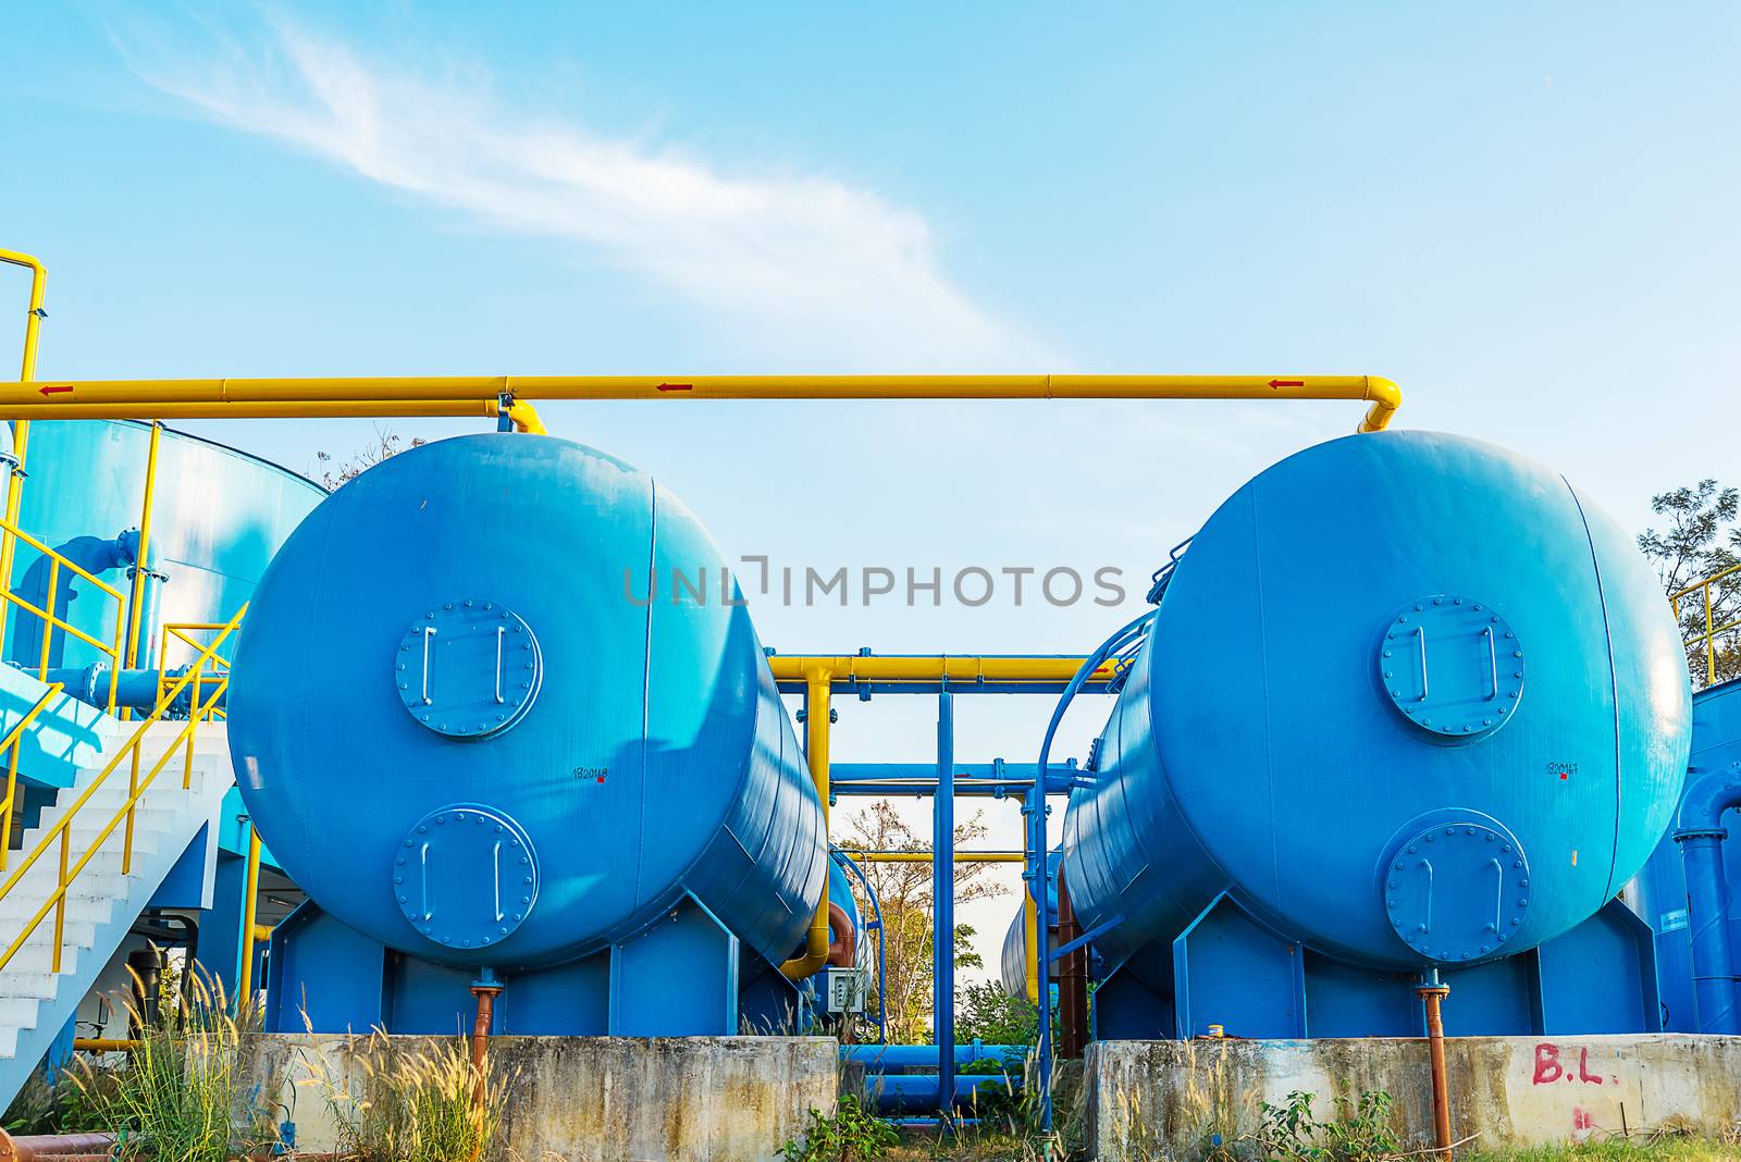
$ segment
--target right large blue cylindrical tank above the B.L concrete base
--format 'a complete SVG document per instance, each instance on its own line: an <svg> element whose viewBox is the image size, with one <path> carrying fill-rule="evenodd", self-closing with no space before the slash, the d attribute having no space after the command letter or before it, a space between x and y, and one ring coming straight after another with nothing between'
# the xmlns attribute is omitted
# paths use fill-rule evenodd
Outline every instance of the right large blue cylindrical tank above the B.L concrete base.
<svg viewBox="0 0 1741 1162"><path fill-rule="evenodd" d="M1307 449L1193 539L1071 798L1106 967L1227 891L1368 967L1527 950L1614 898L1687 767L1675 621L1558 473L1395 431ZM1142 965L1132 962L1142 972Z"/></svg>

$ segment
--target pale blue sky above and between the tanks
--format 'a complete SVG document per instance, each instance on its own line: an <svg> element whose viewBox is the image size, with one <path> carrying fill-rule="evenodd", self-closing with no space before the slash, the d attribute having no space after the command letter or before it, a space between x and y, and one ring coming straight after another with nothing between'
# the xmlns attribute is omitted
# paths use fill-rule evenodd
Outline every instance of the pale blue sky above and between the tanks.
<svg viewBox="0 0 1741 1162"><path fill-rule="evenodd" d="M1511 445L1628 527L1654 491L1741 478L1732 5L37 3L5 26L0 245L50 268L44 376L1368 372L1403 386L1400 426ZM1358 419L543 411L731 555L1130 576ZM369 438L200 430L294 468ZM756 607L789 652L1085 651L1125 612ZM931 708L886 701L843 713L843 757L923 748ZM959 750L1027 758L1046 710L965 708Z"/></svg>

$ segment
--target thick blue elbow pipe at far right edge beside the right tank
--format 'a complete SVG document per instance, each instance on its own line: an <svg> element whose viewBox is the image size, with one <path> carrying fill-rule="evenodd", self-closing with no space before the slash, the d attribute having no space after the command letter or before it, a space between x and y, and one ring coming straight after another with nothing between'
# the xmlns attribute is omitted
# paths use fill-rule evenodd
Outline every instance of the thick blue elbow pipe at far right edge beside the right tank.
<svg viewBox="0 0 1741 1162"><path fill-rule="evenodd" d="M1741 769L1713 771L1687 788L1675 842L1687 873L1692 931L1692 1004L1701 1033L1741 1033L1734 950L1729 945L1729 882L1724 878L1722 816L1741 807Z"/></svg>

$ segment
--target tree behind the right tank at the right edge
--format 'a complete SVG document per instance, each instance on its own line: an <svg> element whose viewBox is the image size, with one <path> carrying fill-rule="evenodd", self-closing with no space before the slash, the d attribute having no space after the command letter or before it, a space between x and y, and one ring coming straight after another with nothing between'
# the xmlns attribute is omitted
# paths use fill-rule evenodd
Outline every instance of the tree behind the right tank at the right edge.
<svg viewBox="0 0 1741 1162"><path fill-rule="evenodd" d="M1656 565L1663 591L1680 593L1713 574L1741 564L1741 491L1725 489L1715 480L1699 480L1692 487L1659 492L1650 498L1650 511L1666 517L1663 531L1645 529L1638 534L1638 550ZM1741 619L1741 574L1731 574L1710 588L1710 624L1732 626ZM1704 595L1699 590L1682 597L1677 611L1680 637L1692 642L1687 647L1687 668L1694 685L1704 685L1711 677L1706 670ZM1718 633L1713 644L1715 680L1724 682L1741 675L1741 649L1736 633Z"/></svg>

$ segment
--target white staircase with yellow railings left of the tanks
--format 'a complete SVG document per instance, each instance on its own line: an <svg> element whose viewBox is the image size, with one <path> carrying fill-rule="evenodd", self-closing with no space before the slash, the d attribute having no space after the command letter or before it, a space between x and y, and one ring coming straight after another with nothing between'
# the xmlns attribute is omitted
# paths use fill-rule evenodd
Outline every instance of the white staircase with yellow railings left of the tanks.
<svg viewBox="0 0 1741 1162"><path fill-rule="evenodd" d="M54 971L52 908L12 960L0 969L0 1105L10 1101L42 1061L44 1052L77 1012L78 1002L120 948L146 901L198 835L200 826L216 821L225 791L235 783L225 722L211 720L200 722L195 732L192 786L186 790L181 786L188 771L186 743L176 745L176 738L183 727L186 722L151 724L139 745L141 781L165 748L174 746L176 753L164 764L136 809L129 872L122 873L127 826L122 819L84 872L73 878L66 892L61 971ZM136 722L104 717L99 727L103 758L80 767L75 785L56 795L54 805L44 809L38 826L24 831L24 845L9 854L0 884L23 866L30 852L66 816L134 731L138 731ZM131 758L122 758L78 809L70 825L68 870L91 851L103 828L125 805L131 765ZM212 833L216 835L216 826ZM0 899L0 953L17 939L37 910L54 894L59 872L59 837L56 837L17 885Z"/></svg>

